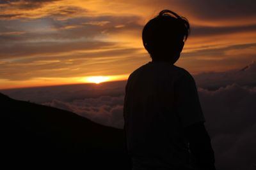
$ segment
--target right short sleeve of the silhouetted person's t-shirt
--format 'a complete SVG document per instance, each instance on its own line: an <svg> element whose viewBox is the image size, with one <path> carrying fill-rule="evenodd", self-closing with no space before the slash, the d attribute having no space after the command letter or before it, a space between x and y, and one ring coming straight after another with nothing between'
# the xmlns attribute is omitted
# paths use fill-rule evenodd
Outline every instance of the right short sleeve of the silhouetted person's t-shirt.
<svg viewBox="0 0 256 170"><path fill-rule="evenodd" d="M205 122L200 105L196 83L188 73L182 75L175 84L177 112L183 127L188 127L197 122Z"/></svg>

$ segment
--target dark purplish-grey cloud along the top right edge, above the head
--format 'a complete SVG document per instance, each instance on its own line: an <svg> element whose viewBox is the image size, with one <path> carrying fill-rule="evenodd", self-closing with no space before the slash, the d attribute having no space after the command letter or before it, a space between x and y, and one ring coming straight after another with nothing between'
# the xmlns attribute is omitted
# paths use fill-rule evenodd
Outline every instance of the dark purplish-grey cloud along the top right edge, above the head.
<svg viewBox="0 0 256 170"><path fill-rule="evenodd" d="M236 18L256 16L256 2L253 0L131 0L130 2L150 6L153 9L161 6L162 9L168 8L177 13L184 13L185 17L191 15L204 20L227 20L228 18L236 20Z"/></svg>

